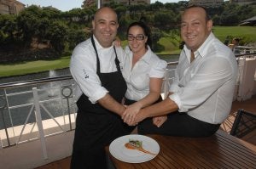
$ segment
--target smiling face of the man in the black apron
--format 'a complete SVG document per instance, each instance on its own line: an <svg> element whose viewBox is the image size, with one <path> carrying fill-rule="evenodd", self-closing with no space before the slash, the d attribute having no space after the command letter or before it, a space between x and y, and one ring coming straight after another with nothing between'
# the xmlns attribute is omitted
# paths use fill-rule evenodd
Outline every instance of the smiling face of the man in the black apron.
<svg viewBox="0 0 256 169"><path fill-rule="evenodd" d="M117 15L113 9L108 7L100 8L96 12L94 20L92 20L93 34L103 48L112 45L118 27Z"/></svg>

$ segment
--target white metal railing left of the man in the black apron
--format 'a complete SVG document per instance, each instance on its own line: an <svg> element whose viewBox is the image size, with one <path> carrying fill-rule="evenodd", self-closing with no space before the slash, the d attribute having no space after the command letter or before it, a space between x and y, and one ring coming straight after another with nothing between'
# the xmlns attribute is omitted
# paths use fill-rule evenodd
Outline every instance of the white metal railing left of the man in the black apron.
<svg viewBox="0 0 256 169"><path fill-rule="evenodd" d="M0 148L73 130L72 76L0 84Z"/></svg>

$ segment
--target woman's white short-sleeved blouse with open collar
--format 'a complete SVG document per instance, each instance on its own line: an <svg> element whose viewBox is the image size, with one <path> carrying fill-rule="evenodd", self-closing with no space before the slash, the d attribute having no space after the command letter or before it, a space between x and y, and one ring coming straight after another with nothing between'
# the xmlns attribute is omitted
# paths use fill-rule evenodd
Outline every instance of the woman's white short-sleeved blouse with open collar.
<svg viewBox="0 0 256 169"><path fill-rule="evenodd" d="M132 52L126 47L124 54L123 76L127 84L125 97L131 100L143 99L149 93L150 77L163 78L166 71L166 61L154 54L148 46L148 51L132 66Z"/></svg>

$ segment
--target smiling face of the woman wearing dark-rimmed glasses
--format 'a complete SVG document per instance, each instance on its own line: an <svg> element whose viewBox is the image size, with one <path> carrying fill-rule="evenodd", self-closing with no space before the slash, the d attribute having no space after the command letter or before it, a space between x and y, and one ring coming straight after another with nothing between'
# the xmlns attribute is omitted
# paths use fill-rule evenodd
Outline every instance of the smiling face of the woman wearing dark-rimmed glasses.
<svg viewBox="0 0 256 169"><path fill-rule="evenodd" d="M132 53L140 54L140 55L145 54L147 50L146 49L147 40L148 40L148 37L145 36L145 33L141 26L134 25L130 27L128 31L128 43Z"/></svg>

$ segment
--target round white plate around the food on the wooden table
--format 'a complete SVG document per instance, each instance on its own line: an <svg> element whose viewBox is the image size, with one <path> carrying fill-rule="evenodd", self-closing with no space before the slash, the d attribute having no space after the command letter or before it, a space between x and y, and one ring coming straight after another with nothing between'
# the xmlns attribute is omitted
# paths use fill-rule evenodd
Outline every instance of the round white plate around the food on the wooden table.
<svg viewBox="0 0 256 169"><path fill-rule="evenodd" d="M110 154L119 161L125 161L129 163L141 163L154 159L156 155L149 155L137 149L125 148L125 144L128 143L131 139L142 141L143 149L158 155L160 151L159 144L153 138L148 138L147 136L138 134L125 135L113 140L113 142L109 145Z"/></svg>

